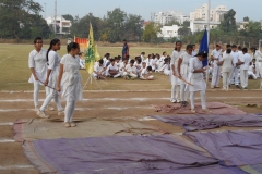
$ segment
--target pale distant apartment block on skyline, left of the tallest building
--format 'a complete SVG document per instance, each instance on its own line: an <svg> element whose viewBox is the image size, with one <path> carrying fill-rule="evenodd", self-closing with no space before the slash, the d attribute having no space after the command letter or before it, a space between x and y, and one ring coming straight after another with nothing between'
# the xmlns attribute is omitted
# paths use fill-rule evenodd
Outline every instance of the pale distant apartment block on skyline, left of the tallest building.
<svg viewBox="0 0 262 174"><path fill-rule="evenodd" d="M153 22L160 24L162 26L174 20L179 22L180 24L182 24L184 21L189 21L189 16L184 15L180 11L152 13L151 17Z"/></svg>

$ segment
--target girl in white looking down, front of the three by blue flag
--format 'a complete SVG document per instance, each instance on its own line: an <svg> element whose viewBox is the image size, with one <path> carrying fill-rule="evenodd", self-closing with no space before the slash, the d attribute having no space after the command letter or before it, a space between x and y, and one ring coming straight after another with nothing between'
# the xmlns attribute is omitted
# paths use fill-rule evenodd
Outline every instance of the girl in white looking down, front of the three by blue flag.
<svg viewBox="0 0 262 174"><path fill-rule="evenodd" d="M203 64L202 64L202 61L204 61L205 58L207 58L207 53L202 51L198 53L194 58L190 59L190 62L189 62L189 70L190 70L189 82L193 85L193 86L189 85L192 113L195 113L195 108L194 108L195 91L200 91L202 110L204 112L209 112L206 108L206 102L205 102L206 84L204 80L204 74L206 70L203 69Z"/></svg>

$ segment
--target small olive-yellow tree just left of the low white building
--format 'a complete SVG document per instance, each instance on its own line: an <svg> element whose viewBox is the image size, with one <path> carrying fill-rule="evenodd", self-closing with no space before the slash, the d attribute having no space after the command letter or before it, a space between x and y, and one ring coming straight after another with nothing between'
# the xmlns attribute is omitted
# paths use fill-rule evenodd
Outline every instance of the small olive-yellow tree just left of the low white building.
<svg viewBox="0 0 262 174"><path fill-rule="evenodd" d="M160 32L160 26L155 23L150 23L145 26L143 32L143 41L145 42L156 42L157 41L157 33Z"/></svg>

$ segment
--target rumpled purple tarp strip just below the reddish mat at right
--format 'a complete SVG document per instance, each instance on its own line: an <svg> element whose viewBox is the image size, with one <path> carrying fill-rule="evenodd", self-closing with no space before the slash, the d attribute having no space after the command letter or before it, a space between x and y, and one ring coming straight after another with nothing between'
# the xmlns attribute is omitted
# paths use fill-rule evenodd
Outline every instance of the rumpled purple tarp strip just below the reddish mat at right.
<svg viewBox="0 0 262 174"><path fill-rule="evenodd" d="M165 123L183 127L188 132L231 127L262 127L262 117L258 115L174 115L152 116Z"/></svg>

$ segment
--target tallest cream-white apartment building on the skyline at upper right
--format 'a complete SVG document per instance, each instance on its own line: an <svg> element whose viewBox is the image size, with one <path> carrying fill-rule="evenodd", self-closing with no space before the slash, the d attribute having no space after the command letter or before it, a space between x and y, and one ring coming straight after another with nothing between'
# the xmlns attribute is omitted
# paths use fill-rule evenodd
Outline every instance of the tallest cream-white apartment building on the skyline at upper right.
<svg viewBox="0 0 262 174"><path fill-rule="evenodd" d="M214 22L221 22L222 15L227 13L229 10L227 10L226 5L218 5L215 8L215 10L210 11L210 20ZM190 21L207 21L209 20L209 5L203 4L201 8L195 9L194 12L190 13Z"/></svg>

